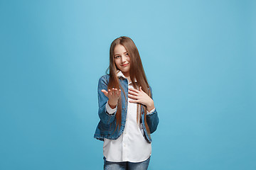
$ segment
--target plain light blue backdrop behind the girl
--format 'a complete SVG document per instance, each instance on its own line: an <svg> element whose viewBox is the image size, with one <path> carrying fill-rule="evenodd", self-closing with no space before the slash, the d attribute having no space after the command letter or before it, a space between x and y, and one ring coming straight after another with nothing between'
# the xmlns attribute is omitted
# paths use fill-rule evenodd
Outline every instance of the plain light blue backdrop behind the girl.
<svg viewBox="0 0 256 170"><path fill-rule="evenodd" d="M102 169L110 43L153 89L149 169L256 169L255 1L0 1L0 169Z"/></svg>

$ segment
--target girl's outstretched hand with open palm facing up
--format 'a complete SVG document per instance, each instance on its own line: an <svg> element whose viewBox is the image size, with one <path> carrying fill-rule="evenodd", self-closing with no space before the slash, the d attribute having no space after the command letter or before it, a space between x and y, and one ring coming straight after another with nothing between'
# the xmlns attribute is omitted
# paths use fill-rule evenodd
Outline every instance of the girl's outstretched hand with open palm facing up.
<svg viewBox="0 0 256 170"><path fill-rule="evenodd" d="M109 105L111 108L115 108L117 106L117 101L121 96L121 89L117 90L117 89L108 89L108 91L106 91L105 89L101 90L103 92L103 94L105 94L105 96L107 96L107 98L109 98Z"/></svg>

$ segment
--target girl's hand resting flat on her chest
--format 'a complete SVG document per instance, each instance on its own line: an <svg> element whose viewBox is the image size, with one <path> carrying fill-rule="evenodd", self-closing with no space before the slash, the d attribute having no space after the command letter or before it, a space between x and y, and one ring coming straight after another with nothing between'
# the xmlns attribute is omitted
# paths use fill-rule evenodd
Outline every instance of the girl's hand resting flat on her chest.
<svg viewBox="0 0 256 170"><path fill-rule="evenodd" d="M154 108L154 101L142 91L142 86L139 87L139 90L129 88L128 97L134 99L130 100L130 103L141 103L146 106L147 111L151 111Z"/></svg>

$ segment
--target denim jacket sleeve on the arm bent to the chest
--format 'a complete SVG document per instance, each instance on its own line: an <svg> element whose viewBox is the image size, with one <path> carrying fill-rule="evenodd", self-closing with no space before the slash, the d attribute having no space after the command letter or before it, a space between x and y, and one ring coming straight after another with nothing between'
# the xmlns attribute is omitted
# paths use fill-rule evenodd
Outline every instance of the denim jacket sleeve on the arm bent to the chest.
<svg viewBox="0 0 256 170"><path fill-rule="evenodd" d="M149 89L151 91L151 98L153 99L151 86L149 86ZM152 113L146 114L146 123L149 125L150 133L156 131L157 125L159 124L159 117L156 108Z"/></svg>

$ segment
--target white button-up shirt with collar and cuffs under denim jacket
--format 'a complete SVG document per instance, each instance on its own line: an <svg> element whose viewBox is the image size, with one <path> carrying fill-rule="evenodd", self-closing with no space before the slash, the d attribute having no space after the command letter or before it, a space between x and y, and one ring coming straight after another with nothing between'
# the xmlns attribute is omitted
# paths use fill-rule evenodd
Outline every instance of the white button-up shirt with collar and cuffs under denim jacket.
<svg viewBox="0 0 256 170"><path fill-rule="evenodd" d="M124 77L124 74L117 72L117 77L119 76ZM134 88L132 82L129 82L128 87ZM151 155L151 143L146 142L144 138L142 123L137 125L137 103L130 103L130 100L131 98L128 98L124 132L117 140L104 139L103 155L109 162L143 162ZM112 109L107 102L106 109L112 114L117 107ZM155 108L146 113L152 113L154 110Z"/></svg>

